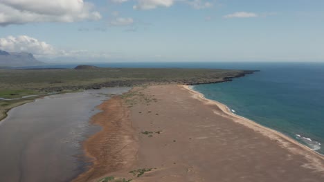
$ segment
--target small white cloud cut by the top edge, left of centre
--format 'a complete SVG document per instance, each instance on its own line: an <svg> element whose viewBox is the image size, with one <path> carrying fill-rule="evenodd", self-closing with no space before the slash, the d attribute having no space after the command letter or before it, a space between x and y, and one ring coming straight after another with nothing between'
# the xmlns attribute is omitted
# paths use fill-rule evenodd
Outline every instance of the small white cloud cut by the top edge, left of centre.
<svg viewBox="0 0 324 182"><path fill-rule="evenodd" d="M134 10L152 10L159 6L170 7L174 0L137 0L138 4L133 6Z"/></svg>

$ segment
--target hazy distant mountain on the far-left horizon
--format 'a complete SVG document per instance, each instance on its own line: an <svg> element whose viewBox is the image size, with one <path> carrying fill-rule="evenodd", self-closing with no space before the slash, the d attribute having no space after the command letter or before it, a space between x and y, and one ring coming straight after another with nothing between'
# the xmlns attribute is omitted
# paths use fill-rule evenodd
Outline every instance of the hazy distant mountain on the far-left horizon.
<svg viewBox="0 0 324 182"><path fill-rule="evenodd" d="M28 52L6 52L0 50L0 67L43 65Z"/></svg>

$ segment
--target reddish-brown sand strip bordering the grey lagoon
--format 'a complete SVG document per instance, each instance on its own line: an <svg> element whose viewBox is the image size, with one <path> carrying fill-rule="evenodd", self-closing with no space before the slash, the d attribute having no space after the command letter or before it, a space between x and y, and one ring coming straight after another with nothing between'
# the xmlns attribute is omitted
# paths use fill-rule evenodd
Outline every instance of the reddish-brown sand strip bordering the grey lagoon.
<svg viewBox="0 0 324 182"><path fill-rule="evenodd" d="M120 96L111 97L96 108L100 112L93 115L89 123L99 125L101 130L82 142L84 156L91 159L91 165L73 182L93 181L109 172L129 168L136 160L134 156L127 156L138 150L138 143L129 121L129 110Z"/></svg>

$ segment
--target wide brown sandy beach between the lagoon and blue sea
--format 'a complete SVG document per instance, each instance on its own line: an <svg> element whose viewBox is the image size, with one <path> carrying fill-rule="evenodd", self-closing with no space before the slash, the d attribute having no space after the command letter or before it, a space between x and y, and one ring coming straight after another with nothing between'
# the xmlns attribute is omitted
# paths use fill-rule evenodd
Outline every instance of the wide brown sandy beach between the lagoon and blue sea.
<svg viewBox="0 0 324 182"><path fill-rule="evenodd" d="M185 85L134 88L98 108L102 130L84 142L93 165L74 181L324 181L323 156Z"/></svg>

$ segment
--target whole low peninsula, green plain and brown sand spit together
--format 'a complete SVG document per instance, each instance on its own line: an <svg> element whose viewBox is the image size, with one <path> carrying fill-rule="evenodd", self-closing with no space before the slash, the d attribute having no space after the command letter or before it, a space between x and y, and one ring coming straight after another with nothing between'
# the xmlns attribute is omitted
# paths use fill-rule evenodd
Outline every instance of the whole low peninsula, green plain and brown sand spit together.
<svg viewBox="0 0 324 182"><path fill-rule="evenodd" d="M73 181L323 181L321 154L189 86L253 72L89 65L2 69L1 113L5 117L10 108L46 94L132 87L98 105L101 112L90 123L102 129L82 144L91 165Z"/></svg>

